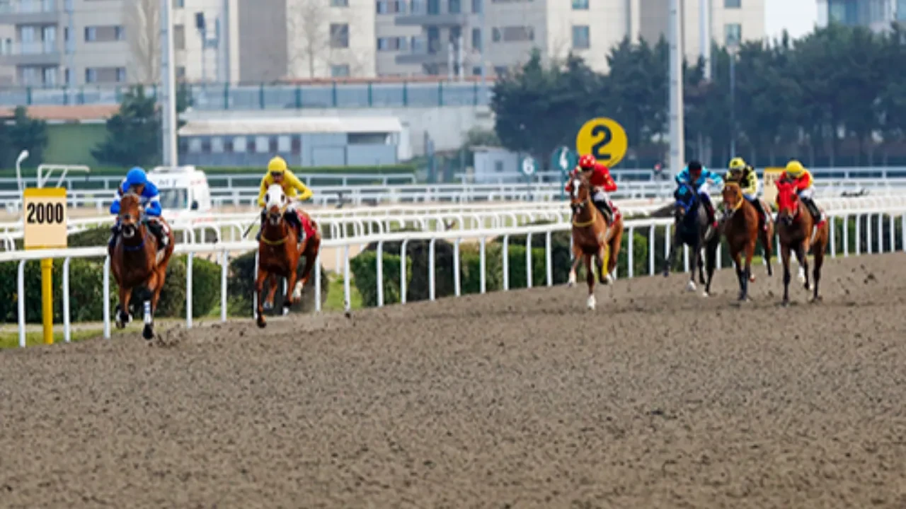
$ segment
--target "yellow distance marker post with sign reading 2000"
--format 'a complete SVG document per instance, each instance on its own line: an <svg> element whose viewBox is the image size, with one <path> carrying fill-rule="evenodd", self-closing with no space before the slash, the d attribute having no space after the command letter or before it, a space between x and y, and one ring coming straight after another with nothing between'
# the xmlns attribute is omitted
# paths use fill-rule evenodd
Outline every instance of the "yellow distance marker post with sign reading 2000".
<svg viewBox="0 0 906 509"><path fill-rule="evenodd" d="M66 248L66 188L29 187L22 196L25 249ZM20 295L19 298L24 298ZM53 258L41 260L44 344L53 344Z"/></svg>

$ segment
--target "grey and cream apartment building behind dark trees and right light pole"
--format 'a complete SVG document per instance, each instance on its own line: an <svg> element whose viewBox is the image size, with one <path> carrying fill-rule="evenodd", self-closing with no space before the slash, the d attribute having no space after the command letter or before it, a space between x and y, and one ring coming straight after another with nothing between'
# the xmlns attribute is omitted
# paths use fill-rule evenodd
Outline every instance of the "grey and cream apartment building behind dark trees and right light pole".
<svg viewBox="0 0 906 509"><path fill-rule="evenodd" d="M629 35L651 42L667 34L669 0L376 0L381 75L489 73L524 62L534 48L545 58L571 51L607 71L607 54ZM707 2L710 40L765 36L765 0L682 0L689 58L701 48L700 2ZM391 21L392 20L392 21ZM461 44L461 46L460 46ZM461 48L461 49L460 49ZM485 48L485 51L483 51ZM452 52L452 53L451 53Z"/></svg>

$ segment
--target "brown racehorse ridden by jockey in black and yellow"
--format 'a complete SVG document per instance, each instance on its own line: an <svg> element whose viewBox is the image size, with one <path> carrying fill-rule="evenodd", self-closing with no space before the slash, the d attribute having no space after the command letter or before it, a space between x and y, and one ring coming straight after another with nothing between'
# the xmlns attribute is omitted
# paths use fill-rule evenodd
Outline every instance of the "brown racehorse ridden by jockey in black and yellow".
<svg viewBox="0 0 906 509"><path fill-rule="evenodd" d="M765 251L767 275L774 275L774 269L771 267L771 237L774 236L774 224L768 217L766 230L759 227L758 211L755 206L748 203L746 197L743 197L742 189L736 182L726 183L721 195L726 209L723 232L727 237L730 256L733 258L733 263L736 264L739 300L746 301L748 283L755 281L755 275L752 274L752 256L755 255L755 244L758 240L761 241L761 246ZM741 259L744 251L745 268L743 268Z"/></svg>

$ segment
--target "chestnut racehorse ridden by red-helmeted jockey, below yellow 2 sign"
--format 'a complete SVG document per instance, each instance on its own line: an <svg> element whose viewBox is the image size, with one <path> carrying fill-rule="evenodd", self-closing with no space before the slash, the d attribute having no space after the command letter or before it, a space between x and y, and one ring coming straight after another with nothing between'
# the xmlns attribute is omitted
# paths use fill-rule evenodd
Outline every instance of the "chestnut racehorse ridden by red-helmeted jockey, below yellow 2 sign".
<svg viewBox="0 0 906 509"><path fill-rule="evenodd" d="M588 309L594 309L592 257L595 257L599 281L602 284L613 283L613 269L617 266L622 241L622 215L616 207L613 207L612 224L607 226L604 216L592 202L588 183L580 177L574 177L570 184L570 206L573 208L573 266L569 271L569 286L575 284L575 268L580 260L584 259L588 282ZM605 256L606 271L604 271Z"/></svg>

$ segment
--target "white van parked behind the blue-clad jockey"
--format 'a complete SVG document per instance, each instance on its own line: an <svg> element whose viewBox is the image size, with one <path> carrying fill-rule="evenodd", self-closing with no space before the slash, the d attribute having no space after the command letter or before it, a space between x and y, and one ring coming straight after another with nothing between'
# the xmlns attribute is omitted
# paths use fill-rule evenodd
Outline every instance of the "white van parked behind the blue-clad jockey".
<svg viewBox="0 0 906 509"><path fill-rule="evenodd" d="M148 179L158 187L160 207L169 221L211 211L211 188L205 172L194 166L155 167Z"/></svg>

